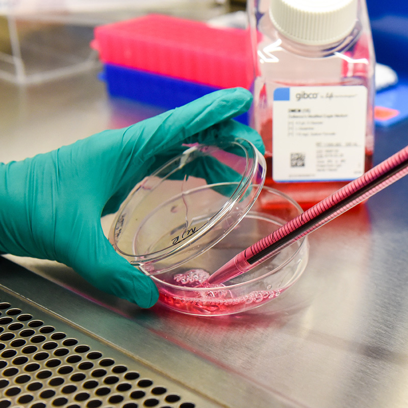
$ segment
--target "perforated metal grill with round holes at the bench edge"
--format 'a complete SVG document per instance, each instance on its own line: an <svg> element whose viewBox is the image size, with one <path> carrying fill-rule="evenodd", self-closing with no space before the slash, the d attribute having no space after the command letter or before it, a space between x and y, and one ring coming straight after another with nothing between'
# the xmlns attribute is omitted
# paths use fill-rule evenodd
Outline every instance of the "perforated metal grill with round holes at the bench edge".
<svg viewBox="0 0 408 408"><path fill-rule="evenodd" d="M0 408L196 406L66 331L0 299Z"/></svg>

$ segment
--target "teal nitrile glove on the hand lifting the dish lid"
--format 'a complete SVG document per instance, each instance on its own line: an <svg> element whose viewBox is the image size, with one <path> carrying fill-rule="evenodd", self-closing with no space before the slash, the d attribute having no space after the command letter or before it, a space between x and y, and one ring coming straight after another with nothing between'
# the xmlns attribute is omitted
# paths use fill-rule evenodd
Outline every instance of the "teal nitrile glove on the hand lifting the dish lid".
<svg viewBox="0 0 408 408"><path fill-rule="evenodd" d="M151 307L155 284L114 251L100 217L182 143L235 135L262 151L258 133L231 120L250 103L249 91L225 89L125 129L0 163L0 252L59 261L97 288Z"/></svg>

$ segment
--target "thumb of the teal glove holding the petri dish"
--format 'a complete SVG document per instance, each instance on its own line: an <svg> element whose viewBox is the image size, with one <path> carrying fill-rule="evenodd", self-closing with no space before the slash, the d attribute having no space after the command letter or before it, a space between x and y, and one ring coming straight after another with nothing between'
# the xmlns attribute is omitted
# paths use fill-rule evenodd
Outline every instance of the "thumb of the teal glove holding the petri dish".
<svg viewBox="0 0 408 408"><path fill-rule="evenodd" d="M127 260L119 256L105 237L102 228L94 226L91 234L73 257L72 268L98 289L150 308L159 292L154 282Z"/></svg>

